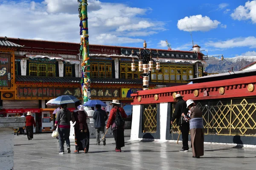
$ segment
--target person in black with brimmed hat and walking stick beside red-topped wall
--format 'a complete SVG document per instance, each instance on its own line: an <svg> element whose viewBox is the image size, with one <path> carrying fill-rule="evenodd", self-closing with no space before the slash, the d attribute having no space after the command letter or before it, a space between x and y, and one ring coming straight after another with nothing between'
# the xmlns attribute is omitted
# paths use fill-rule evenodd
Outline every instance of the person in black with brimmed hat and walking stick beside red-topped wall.
<svg viewBox="0 0 256 170"><path fill-rule="evenodd" d="M176 119L177 125L180 126L183 147L179 151L188 152L189 151L189 122L186 122L181 116L181 114L184 113L185 115L187 115L189 110L186 107L186 101L183 100L183 96L181 96L180 94L176 94L174 101L175 102L177 101L177 103L175 105L175 111L172 116L171 124Z"/></svg>

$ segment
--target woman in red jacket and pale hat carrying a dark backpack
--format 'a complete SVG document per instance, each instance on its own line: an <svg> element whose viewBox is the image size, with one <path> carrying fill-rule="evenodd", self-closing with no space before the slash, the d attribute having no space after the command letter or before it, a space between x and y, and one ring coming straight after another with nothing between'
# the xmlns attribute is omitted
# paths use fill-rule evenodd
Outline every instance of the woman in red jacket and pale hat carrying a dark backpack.
<svg viewBox="0 0 256 170"><path fill-rule="evenodd" d="M113 108L110 111L106 129L111 125L111 130L116 141L116 152L121 152L121 147L125 146L125 123L123 119L126 118L127 115L123 108L119 108L120 103L117 102L117 100L113 100L110 105L112 105Z"/></svg>

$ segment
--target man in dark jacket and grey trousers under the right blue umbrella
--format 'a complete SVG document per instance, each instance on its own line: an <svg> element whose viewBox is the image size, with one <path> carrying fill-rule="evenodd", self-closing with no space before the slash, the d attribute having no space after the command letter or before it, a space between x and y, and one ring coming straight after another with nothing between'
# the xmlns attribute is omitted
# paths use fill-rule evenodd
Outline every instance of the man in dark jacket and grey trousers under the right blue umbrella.
<svg viewBox="0 0 256 170"><path fill-rule="evenodd" d="M96 143L99 144L99 132L101 137L105 134L105 122L108 119L107 113L101 109L101 105L95 106L96 111L93 113L94 127L96 128ZM106 139L103 139L103 145L106 145Z"/></svg>

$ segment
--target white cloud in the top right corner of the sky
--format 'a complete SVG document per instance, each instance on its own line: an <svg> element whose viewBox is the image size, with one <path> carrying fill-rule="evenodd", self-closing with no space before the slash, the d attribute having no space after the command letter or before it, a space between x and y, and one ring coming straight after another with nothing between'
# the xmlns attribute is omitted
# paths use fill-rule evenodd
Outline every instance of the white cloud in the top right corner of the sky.
<svg viewBox="0 0 256 170"><path fill-rule="evenodd" d="M252 20L256 23L256 0L247 1L244 6L237 7L230 16L234 20Z"/></svg>

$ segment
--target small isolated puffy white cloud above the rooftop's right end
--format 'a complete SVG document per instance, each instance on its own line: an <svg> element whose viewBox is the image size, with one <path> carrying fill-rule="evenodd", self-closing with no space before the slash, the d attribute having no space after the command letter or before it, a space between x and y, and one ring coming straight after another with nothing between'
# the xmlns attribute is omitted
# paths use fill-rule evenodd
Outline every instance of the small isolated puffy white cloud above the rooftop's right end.
<svg viewBox="0 0 256 170"><path fill-rule="evenodd" d="M183 31L209 31L217 28L219 24L219 21L211 20L207 16L193 15L178 20L177 27Z"/></svg>

